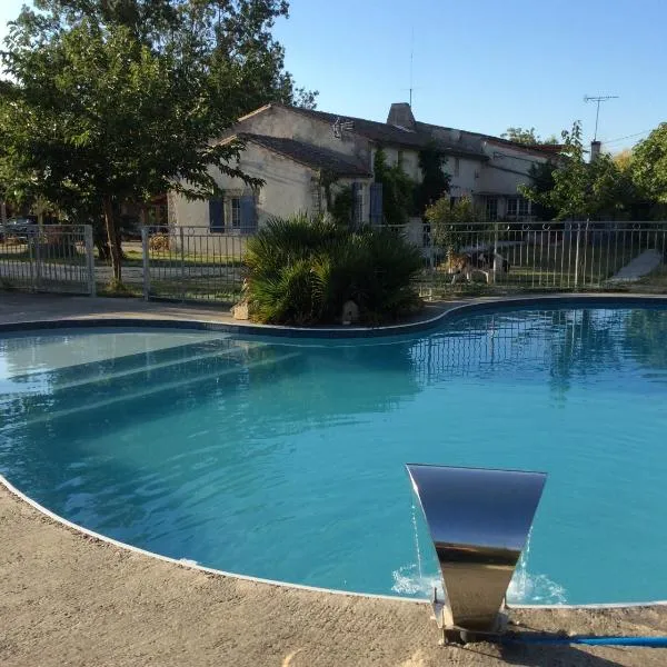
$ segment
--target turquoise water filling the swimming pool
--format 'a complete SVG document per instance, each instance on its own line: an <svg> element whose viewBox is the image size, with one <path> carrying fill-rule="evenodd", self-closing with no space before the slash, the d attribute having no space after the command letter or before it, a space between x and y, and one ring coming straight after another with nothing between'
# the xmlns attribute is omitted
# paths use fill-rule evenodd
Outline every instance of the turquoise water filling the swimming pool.
<svg viewBox="0 0 667 667"><path fill-rule="evenodd" d="M435 565L404 464L545 470L510 599L667 599L666 399L658 309L500 311L361 341L11 334L0 471L159 554L425 597Z"/></svg>

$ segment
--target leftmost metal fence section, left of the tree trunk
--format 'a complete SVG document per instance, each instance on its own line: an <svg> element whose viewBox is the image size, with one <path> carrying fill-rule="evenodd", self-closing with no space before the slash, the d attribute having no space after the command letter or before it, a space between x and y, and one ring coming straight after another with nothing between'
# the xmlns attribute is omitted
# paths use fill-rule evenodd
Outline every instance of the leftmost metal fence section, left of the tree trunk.
<svg viewBox="0 0 667 667"><path fill-rule="evenodd" d="M0 225L0 287L96 293L88 225Z"/></svg>

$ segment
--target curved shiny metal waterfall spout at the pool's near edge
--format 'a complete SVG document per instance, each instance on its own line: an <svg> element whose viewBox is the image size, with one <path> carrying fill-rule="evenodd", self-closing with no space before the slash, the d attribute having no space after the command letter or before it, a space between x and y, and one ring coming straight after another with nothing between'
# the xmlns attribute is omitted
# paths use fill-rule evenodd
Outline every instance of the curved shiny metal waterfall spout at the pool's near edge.
<svg viewBox="0 0 667 667"><path fill-rule="evenodd" d="M440 565L445 600L434 596L438 625L444 633L497 631L546 474L416 464L407 469Z"/></svg>

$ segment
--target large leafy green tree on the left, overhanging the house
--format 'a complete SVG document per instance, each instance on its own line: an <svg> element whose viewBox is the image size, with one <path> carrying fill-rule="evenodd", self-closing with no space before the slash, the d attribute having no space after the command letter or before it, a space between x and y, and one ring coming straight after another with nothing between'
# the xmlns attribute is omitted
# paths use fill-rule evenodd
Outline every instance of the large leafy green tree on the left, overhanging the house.
<svg viewBox="0 0 667 667"><path fill-rule="evenodd" d="M103 216L116 281L118 210L170 189L217 191L242 145L212 143L272 100L311 104L271 38L283 0L36 0L2 52L0 173L17 198Z"/></svg>

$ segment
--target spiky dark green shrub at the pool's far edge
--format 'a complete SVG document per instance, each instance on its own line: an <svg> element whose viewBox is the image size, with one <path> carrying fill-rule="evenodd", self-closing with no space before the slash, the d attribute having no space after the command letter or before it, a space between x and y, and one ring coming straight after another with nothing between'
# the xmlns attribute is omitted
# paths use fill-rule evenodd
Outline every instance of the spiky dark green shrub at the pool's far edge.
<svg viewBox="0 0 667 667"><path fill-rule="evenodd" d="M362 321L396 319L420 301L419 250L388 229L348 231L321 218L273 218L248 240L248 301L255 320L338 321L352 300Z"/></svg>

